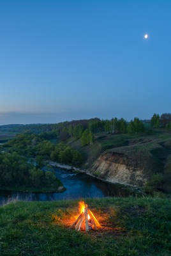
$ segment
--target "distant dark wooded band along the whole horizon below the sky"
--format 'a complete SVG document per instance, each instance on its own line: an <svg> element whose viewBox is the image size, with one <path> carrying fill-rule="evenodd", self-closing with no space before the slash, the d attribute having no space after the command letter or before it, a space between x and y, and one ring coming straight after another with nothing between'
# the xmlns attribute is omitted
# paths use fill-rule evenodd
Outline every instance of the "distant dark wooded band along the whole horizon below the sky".
<svg viewBox="0 0 171 256"><path fill-rule="evenodd" d="M171 114L163 113L161 116L154 113L151 120L152 129L164 128L171 131ZM3 130L2 130L3 129ZM92 118L89 120L73 120L71 122L61 122L58 124L45 125L3 125L0 131L10 131L38 134L40 138L45 140L55 139L57 142L67 141L70 138L80 140L82 146L92 145L94 135L98 132L106 132L111 134L137 134L145 131L145 125L142 120L135 117L130 122L124 118L114 117L110 120L101 120L100 118ZM14 130L12 130L14 129Z"/></svg>

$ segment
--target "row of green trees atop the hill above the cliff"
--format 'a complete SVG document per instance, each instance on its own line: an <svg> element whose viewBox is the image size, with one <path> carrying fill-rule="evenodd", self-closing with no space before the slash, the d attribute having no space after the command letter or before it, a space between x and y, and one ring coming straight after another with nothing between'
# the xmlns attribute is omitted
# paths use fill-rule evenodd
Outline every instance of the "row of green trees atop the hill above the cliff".
<svg viewBox="0 0 171 256"><path fill-rule="evenodd" d="M152 128L165 128L167 131L171 131L171 114L164 113L161 116L155 114L151 120ZM98 132L107 132L111 134L137 134L145 132L145 125L142 120L135 117L130 122L124 120L124 118L112 118L111 120L100 120L100 118L94 118L89 120L86 125L82 124L65 124L61 125L59 132L59 138L62 140L68 140L68 138L80 139L82 146L92 145L94 142L94 134Z"/></svg>

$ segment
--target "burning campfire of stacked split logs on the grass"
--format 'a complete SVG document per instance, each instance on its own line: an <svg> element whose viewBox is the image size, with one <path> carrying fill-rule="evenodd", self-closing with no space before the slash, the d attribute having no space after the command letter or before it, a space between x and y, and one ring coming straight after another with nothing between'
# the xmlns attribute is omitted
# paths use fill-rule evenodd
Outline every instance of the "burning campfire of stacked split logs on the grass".
<svg viewBox="0 0 171 256"><path fill-rule="evenodd" d="M84 202L78 202L78 204L78 210L80 212L80 215L78 216L77 220L74 221L70 228L75 228L75 230L77 231L89 231L94 228L98 229L97 227L101 227L100 223L94 216L93 212L89 209L88 205L84 204Z"/></svg>

